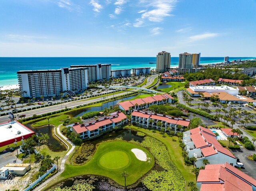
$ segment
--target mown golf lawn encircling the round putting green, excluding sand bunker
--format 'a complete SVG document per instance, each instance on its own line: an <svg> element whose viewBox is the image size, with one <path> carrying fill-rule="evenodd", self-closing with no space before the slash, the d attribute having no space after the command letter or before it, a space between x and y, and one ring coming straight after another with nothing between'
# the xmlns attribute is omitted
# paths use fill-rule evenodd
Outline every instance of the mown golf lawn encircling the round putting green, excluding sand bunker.
<svg viewBox="0 0 256 191"><path fill-rule="evenodd" d="M147 161L136 158L132 149L137 148L146 153ZM154 157L148 150L140 146L121 142L105 142L98 146L92 159L82 166L65 165L61 179L85 174L102 175L109 177L124 186L122 172L127 171L126 185L131 185L145 175L154 165Z"/></svg>

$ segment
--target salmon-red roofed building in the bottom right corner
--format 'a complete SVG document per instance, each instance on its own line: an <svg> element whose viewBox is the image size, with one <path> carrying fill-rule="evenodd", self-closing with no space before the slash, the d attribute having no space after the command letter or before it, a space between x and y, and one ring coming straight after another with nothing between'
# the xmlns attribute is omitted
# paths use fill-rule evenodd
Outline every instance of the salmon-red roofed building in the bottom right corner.
<svg viewBox="0 0 256 191"><path fill-rule="evenodd" d="M226 162L206 165L196 186L200 191L256 191L256 180Z"/></svg>

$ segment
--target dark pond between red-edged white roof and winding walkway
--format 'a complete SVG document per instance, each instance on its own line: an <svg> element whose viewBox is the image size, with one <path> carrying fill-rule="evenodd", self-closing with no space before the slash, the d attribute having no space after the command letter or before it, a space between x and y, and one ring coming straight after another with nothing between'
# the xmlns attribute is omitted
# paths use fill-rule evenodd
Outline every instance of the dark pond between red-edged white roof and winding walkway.
<svg viewBox="0 0 256 191"><path fill-rule="evenodd" d="M57 137L54 136L54 125L46 125L38 128L33 128L32 123L30 123L30 124L26 124L26 126L32 131L34 131L35 133L38 133L39 136L40 136L40 133L48 134L49 135L48 147L51 151L61 152L61 151L67 150L63 142L61 142Z"/></svg>

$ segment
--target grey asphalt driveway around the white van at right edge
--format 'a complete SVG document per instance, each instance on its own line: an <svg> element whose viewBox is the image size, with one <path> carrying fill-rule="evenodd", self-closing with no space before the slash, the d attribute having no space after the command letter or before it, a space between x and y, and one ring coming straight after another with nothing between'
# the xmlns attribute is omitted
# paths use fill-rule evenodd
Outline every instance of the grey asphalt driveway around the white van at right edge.
<svg viewBox="0 0 256 191"><path fill-rule="evenodd" d="M249 176L256 178L256 161L252 161L247 158L247 156L255 154L255 151L249 151L245 148L240 148L240 150L232 150L232 153L235 157L238 157L240 159L241 163L244 164L244 168L242 168L242 171Z"/></svg>

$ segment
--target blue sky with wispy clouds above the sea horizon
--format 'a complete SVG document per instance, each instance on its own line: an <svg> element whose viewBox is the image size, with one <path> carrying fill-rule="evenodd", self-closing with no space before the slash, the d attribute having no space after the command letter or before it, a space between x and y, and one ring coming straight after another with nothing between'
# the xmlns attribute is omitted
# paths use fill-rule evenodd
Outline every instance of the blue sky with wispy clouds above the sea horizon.
<svg viewBox="0 0 256 191"><path fill-rule="evenodd" d="M0 57L256 56L256 0L0 0Z"/></svg>

